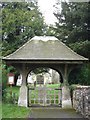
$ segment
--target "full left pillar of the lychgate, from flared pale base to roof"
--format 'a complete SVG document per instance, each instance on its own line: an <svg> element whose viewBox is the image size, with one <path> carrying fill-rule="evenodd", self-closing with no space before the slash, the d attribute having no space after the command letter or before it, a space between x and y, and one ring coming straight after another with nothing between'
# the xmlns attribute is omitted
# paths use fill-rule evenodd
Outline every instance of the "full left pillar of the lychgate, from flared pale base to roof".
<svg viewBox="0 0 90 120"><path fill-rule="evenodd" d="M22 85L19 93L18 106L27 107L28 106L27 86L26 86L27 71L25 69L25 64L22 65L21 74L22 74Z"/></svg>

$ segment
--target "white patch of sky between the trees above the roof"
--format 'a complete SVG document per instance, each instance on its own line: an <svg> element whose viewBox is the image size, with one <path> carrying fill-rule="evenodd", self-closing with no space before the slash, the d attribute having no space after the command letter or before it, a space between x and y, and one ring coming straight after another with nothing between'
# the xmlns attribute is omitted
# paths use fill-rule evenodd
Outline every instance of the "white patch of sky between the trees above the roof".
<svg viewBox="0 0 90 120"><path fill-rule="evenodd" d="M54 24L54 22L57 21L56 17L53 14L55 10L53 5L55 5L55 3L56 0L38 0L40 11L43 13L43 16L45 17L45 22L49 25Z"/></svg>

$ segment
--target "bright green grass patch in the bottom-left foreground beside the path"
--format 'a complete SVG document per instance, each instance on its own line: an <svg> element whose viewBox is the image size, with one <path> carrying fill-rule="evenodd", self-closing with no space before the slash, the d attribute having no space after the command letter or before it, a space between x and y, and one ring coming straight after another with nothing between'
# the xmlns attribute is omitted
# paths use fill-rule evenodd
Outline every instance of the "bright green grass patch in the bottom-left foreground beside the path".
<svg viewBox="0 0 90 120"><path fill-rule="evenodd" d="M2 118L28 118L30 108L13 104L2 104Z"/></svg>

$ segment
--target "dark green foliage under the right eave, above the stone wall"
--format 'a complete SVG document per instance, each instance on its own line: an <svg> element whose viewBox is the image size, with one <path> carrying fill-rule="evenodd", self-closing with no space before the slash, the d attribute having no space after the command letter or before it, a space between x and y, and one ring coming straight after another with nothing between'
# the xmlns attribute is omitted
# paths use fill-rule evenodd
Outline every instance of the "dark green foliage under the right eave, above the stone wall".
<svg viewBox="0 0 90 120"><path fill-rule="evenodd" d="M69 75L69 84L90 85L90 64L74 69Z"/></svg>

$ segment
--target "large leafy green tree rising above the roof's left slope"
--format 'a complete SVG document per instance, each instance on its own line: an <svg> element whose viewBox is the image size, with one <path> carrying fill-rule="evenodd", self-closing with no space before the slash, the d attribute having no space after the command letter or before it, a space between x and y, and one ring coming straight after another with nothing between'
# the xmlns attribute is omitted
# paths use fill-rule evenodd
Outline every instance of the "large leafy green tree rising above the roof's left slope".
<svg viewBox="0 0 90 120"><path fill-rule="evenodd" d="M35 2L2 3L2 54L8 55L35 35L43 35L45 24Z"/></svg>

